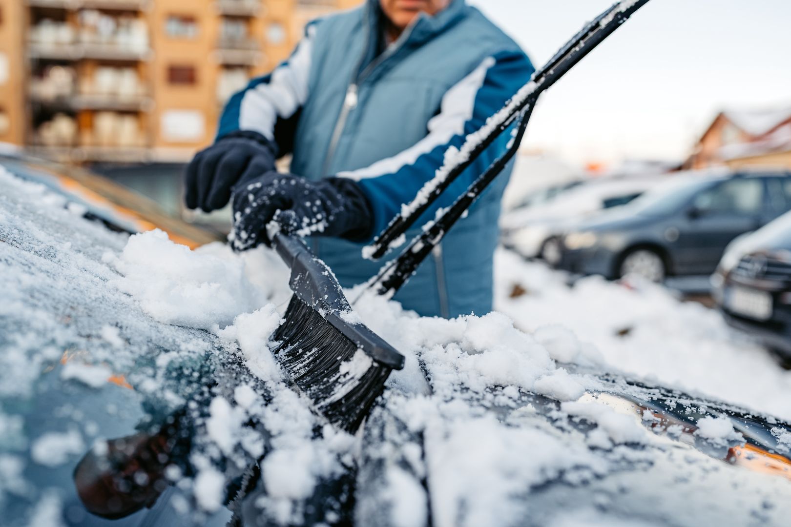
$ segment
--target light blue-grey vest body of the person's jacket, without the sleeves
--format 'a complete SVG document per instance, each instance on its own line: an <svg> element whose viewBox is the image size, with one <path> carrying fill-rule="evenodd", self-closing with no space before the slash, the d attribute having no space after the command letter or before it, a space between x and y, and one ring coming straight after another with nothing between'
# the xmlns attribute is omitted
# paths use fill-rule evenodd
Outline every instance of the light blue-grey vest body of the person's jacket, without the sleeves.
<svg viewBox="0 0 791 527"><path fill-rule="evenodd" d="M502 51L521 53L478 9L465 5L464 0L454 0L435 17L421 16L408 38L399 42L399 50L361 77L378 53L381 16L379 0L369 0L359 9L316 24L308 80L311 95L294 137L294 174L316 179L395 156L426 136L427 123L439 112L448 88L487 57ZM513 92L531 74L532 68L508 79ZM350 85L357 88L357 104L344 117ZM345 122L339 123L341 118ZM333 138L336 128L339 135ZM503 147L502 142L493 146L500 151ZM482 167L477 166L478 170ZM504 171L467 217L448 232L433 258L428 258L395 295L403 307L445 318L491 311L500 200L510 171L511 167ZM425 179L432 176L433 170ZM448 205L452 198L445 198L441 205ZM311 243L344 287L368 280L384 263L361 258L363 244L319 237Z"/></svg>

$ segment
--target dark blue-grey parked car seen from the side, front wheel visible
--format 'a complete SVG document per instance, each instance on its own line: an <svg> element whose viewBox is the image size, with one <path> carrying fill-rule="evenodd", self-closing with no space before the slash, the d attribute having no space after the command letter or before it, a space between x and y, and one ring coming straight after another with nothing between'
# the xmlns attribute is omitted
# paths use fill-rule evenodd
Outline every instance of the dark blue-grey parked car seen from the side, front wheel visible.
<svg viewBox="0 0 791 527"><path fill-rule="evenodd" d="M618 210L574 224L557 267L610 279L710 275L736 236L791 209L791 174L686 173Z"/></svg>

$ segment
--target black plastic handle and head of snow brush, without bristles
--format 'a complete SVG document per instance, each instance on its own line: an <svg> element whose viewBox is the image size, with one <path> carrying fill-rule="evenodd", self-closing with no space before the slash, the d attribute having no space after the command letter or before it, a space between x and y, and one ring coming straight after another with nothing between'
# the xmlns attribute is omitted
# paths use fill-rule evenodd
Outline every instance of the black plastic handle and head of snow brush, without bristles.
<svg viewBox="0 0 791 527"><path fill-rule="evenodd" d="M327 264L313 255L301 238L278 232L272 236L272 247L291 269L289 287L298 299L318 312L377 363L394 370L403 368L403 355L368 326L355 320L356 315L335 274Z"/></svg>

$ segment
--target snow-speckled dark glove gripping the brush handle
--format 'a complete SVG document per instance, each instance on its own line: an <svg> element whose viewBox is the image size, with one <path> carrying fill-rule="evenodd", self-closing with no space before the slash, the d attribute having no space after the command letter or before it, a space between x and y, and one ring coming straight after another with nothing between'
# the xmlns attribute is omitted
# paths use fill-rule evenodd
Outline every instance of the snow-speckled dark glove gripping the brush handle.
<svg viewBox="0 0 791 527"><path fill-rule="evenodd" d="M271 171L233 189L233 248L271 245L267 224L275 221L289 234L368 239L373 211L360 186L351 179L308 181Z"/></svg>

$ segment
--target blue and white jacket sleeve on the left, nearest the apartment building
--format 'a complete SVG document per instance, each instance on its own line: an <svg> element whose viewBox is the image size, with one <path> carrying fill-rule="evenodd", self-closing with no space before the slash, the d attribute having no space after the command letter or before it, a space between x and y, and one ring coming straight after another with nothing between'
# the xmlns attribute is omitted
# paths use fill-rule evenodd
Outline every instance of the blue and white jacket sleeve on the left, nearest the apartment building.
<svg viewBox="0 0 791 527"><path fill-rule="evenodd" d="M290 152L293 129L308 99L315 22L305 27L305 37L290 58L271 73L255 77L225 104L217 137L254 132L275 146L279 155Z"/></svg>

